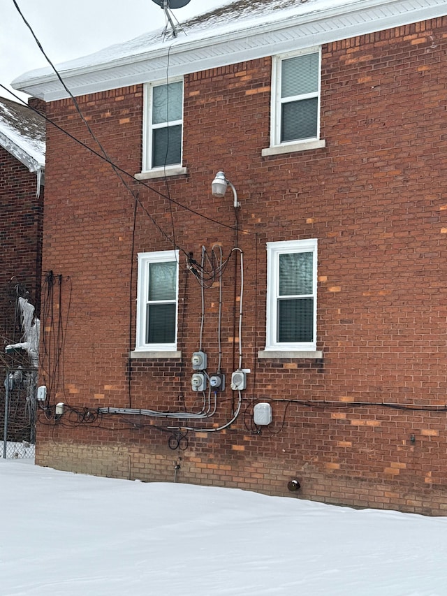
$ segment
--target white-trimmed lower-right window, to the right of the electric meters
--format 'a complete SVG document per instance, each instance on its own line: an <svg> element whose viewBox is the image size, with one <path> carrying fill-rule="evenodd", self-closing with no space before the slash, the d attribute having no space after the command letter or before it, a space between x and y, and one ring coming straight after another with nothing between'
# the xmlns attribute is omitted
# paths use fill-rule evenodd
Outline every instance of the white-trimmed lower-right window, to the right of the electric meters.
<svg viewBox="0 0 447 596"><path fill-rule="evenodd" d="M317 240L267 243L265 349L316 349Z"/></svg>

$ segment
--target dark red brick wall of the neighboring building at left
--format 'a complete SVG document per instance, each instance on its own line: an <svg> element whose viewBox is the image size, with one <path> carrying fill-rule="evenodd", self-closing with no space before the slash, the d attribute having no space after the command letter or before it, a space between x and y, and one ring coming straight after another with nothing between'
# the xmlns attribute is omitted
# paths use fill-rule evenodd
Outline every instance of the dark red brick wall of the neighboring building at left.
<svg viewBox="0 0 447 596"><path fill-rule="evenodd" d="M36 174L0 147L0 335L19 341L13 328L11 278L26 286L38 307L41 291L43 189L36 197ZM2 342L3 344L3 342Z"/></svg>

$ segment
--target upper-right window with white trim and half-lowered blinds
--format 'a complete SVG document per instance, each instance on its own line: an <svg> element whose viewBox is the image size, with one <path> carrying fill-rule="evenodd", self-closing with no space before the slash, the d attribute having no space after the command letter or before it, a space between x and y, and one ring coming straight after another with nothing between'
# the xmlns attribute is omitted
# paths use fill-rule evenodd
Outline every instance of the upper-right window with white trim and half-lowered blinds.
<svg viewBox="0 0 447 596"><path fill-rule="evenodd" d="M271 145L319 139L320 54L306 50L274 59Z"/></svg>

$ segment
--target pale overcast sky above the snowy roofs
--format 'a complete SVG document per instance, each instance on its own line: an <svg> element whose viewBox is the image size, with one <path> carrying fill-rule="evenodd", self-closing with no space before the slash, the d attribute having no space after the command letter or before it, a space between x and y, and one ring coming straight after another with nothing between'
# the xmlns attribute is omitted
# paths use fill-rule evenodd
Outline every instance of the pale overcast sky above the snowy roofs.
<svg viewBox="0 0 447 596"><path fill-rule="evenodd" d="M53 64L78 58L108 45L164 27L165 16L152 0L16 0ZM173 13L179 22L228 0L191 0ZM0 83L48 66L13 0L0 0ZM0 87L0 95L14 99ZM20 94L22 99L25 94Z"/></svg>

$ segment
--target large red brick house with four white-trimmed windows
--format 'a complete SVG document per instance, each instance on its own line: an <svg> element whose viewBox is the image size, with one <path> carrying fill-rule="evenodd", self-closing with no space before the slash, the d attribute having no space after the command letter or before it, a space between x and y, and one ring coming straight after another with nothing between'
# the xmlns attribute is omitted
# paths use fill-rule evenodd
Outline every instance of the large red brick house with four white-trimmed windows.
<svg viewBox="0 0 447 596"><path fill-rule="evenodd" d="M440 0L228 3L61 65L106 158L15 81L71 135L37 463L445 514L446 50Z"/></svg>

